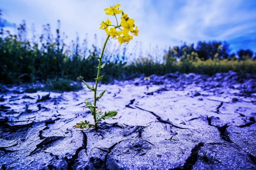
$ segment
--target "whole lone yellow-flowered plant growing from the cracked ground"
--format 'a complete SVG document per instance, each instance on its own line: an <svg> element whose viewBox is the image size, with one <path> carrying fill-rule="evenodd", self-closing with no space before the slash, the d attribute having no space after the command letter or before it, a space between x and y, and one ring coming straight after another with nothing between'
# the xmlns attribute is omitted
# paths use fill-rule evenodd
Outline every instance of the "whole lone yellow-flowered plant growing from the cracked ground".
<svg viewBox="0 0 256 170"><path fill-rule="evenodd" d="M95 85L92 84L90 86L88 83L86 83L84 80L83 82L85 83L86 87L91 90L94 93L94 101L91 103L90 100L86 99L85 100L85 107L90 109L91 114L93 115L94 119L94 124L89 123L87 120L81 121L80 123L76 124L76 127L78 128L98 128L98 122L102 119L106 118L111 118L117 115L116 110L111 110L111 111L105 111L104 114L100 108L96 106L96 102L103 96L103 94L106 92L106 90L103 90L98 96L97 96L97 87L99 81L102 80L103 75L100 75L100 70L105 66L105 63L102 64L102 57L104 54L104 50L107 44L107 41L109 40L110 36L112 39L117 39L120 45L125 42L129 43L131 39L133 39L133 35L138 36L138 26L135 26L134 22L135 20L128 17L126 13L124 13L121 9L119 9L120 4L116 4L113 6L110 6L108 8L105 8L104 10L106 11L107 15L112 15L114 16L116 20L116 25L111 24L111 21L107 18L105 21L102 21L100 25L100 29L104 29L105 32L107 33L107 37L105 40L105 43L103 45L101 55L100 57L94 56L95 58L98 59L98 72L95 80ZM121 14L121 21L120 24L118 24L118 20L116 15ZM129 34L131 33L131 34Z"/></svg>

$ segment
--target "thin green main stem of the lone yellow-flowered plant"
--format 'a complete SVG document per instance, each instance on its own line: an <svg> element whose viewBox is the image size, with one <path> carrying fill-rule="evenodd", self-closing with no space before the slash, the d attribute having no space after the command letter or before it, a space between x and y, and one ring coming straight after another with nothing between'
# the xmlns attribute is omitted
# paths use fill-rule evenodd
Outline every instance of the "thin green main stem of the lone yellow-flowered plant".
<svg viewBox="0 0 256 170"><path fill-rule="evenodd" d="M100 73L100 69L101 69L101 60L102 60L103 53L104 53L104 50L105 50L105 47L106 47L106 43L107 43L109 37L110 37L110 35L107 35L107 38L106 38L106 40L105 40L104 46L103 46L102 51L101 51L101 55L100 55L100 57L99 57L98 72L97 72L96 85L95 85L95 90L94 90L93 118L94 118L95 128L98 127L98 123L96 122L96 121L97 121L97 120L96 120L96 97L97 97L98 77L99 77L99 73Z"/></svg>

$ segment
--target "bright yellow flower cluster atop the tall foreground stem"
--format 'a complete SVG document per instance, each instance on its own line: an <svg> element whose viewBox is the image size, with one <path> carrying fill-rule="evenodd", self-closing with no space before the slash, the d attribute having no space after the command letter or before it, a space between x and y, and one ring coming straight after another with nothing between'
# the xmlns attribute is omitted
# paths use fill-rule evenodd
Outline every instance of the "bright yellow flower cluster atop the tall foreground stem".
<svg viewBox="0 0 256 170"><path fill-rule="evenodd" d="M118 39L120 44L123 42L129 43L129 41L133 39L133 35L138 36L139 29L138 26L135 25L135 20L120 10L119 7L120 4L116 4L104 9L106 14L115 17L116 25L111 24L111 21L107 18L105 21L102 21L99 28L104 29L113 39ZM120 24L118 24L117 21L117 14L121 14Z"/></svg>

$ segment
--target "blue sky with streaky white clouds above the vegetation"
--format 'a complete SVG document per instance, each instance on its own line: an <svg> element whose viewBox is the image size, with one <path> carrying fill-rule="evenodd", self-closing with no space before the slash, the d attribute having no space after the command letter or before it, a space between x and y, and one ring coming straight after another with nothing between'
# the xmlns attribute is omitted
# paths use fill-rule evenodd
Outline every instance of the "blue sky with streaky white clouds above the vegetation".
<svg viewBox="0 0 256 170"><path fill-rule="evenodd" d="M80 39L88 33L89 43L94 33L98 45L103 43L104 31L98 29L107 17L103 9L115 3L136 20L139 36L145 49L195 43L199 40L226 40L233 51L250 48L256 51L256 0L1 0L3 17L9 22L23 19L37 34L42 25L50 23L68 35L67 40ZM150 50L150 49L149 49Z"/></svg>

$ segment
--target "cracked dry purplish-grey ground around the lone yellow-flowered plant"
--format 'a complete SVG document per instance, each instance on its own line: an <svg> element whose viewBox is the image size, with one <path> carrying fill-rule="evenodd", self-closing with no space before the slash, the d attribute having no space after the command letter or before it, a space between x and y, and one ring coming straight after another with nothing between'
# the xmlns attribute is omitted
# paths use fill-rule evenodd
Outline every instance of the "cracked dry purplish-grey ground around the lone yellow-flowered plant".
<svg viewBox="0 0 256 170"><path fill-rule="evenodd" d="M256 77L172 73L102 84L100 128L74 92L1 85L2 169L256 169Z"/></svg>

